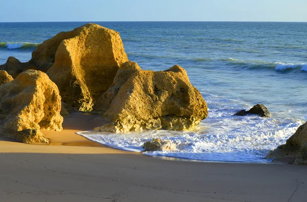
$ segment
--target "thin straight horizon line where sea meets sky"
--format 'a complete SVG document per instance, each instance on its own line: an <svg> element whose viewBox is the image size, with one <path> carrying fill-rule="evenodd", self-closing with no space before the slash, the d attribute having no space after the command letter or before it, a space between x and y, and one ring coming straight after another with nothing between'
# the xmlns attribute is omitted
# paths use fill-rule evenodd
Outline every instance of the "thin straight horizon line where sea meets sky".
<svg viewBox="0 0 307 202"><path fill-rule="evenodd" d="M158 21L151 21L151 20L136 20L136 21L0 21L0 23L307 23L307 21L217 21L217 20L209 20L209 21L192 21L192 20L158 20Z"/></svg>

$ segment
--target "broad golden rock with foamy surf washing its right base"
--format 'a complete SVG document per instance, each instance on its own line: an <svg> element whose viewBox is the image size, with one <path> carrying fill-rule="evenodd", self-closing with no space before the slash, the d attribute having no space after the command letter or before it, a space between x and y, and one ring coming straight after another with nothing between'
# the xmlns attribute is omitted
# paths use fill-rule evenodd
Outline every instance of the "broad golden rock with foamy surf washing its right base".
<svg viewBox="0 0 307 202"><path fill-rule="evenodd" d="M104 117L111 124L96 131L190 130L207 117L207 104L186 71L136 71L123 84Z"/></svg>

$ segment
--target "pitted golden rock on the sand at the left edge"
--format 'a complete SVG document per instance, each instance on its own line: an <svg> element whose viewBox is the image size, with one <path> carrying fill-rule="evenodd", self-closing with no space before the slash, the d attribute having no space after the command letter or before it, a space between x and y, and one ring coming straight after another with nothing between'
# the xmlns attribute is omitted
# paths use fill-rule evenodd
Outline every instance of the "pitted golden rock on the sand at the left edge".
<svg viewBox="0 0 307 202"><path fill-rule="evenodd" d="M39 129L62 130L61 97L40 71L27 70L0 85L0 134L25 143L43 142Z"/></svg>

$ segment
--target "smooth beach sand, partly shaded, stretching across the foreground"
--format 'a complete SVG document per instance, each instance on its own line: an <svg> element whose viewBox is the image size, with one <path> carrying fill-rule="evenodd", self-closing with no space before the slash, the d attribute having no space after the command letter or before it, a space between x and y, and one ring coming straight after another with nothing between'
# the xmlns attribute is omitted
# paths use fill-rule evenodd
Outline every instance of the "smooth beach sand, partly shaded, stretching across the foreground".
<svg viewBox="0 0 307 202"><path fill-rule="evenodd" d="M50 145L1 138L0 201L306 201L306 166L166 161L74 133L96 122L65 119Z"/></svg>

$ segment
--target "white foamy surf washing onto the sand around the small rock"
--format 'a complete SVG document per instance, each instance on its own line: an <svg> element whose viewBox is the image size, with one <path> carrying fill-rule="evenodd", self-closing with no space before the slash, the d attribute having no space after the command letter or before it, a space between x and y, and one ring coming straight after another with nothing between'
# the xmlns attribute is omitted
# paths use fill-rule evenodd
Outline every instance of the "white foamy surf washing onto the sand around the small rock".
<svg viewBox="0 0 307 202"><path fill-rule="evenodd" d="M302 124L291 119L232 116L237 110L211 105L209 117L196 131L151 130L125 134L91 131L79 134L100 144L128 151L144 151L143 143L152 138L170 140L177 144L176 151L144 152L147 155L203 161L267 163L270 160L264 158L269 150L284 144Z"/></svg>

